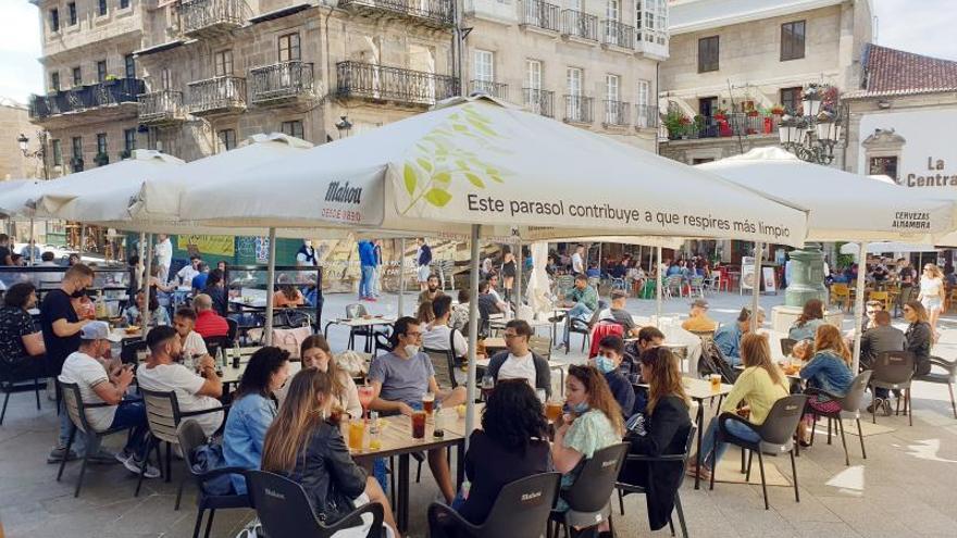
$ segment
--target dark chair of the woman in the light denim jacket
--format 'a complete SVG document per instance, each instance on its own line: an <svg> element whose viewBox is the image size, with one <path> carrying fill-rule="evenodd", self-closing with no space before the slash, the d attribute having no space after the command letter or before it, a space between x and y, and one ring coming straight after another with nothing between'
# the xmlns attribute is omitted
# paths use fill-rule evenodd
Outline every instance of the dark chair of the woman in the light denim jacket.
<svg viewBox="0 0 957 538"><path fill-rule="evenodd" d="M202 431L199 423L194 420L186 420L179 424L176 429L176 437L179 438L179 450L183 451L183 460L186 462L186 470L196 480L196 525L192 527L192 538L199 537L199 528L202 526L202 517L206 511L210 511L209 520L206 522L206 538L209 538L210 529L213 526L213 516L216 510L252 508L249 497L246 495L210 495L206 490L206 483L223 475L239 474L243 475L246 470L241 467L220 467L206 473L196 471L196 462L194 461L192 451L206 445L208 438ZM182 491L182 490L181 490Z"/></svg>

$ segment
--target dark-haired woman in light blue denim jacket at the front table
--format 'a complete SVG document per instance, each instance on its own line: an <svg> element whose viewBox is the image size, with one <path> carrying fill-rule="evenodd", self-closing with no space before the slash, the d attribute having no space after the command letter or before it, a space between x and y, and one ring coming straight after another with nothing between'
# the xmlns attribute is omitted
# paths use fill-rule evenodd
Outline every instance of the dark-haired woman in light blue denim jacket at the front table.
<svg viewBox="0 0 957 538"><path fill-rule="evenodd" d="M259 468L265 431L276 417L273 392L289 377L289 352L279 348L260 348L249 359L223 430L223 456L226 465ZM232 475L233 488L246 493L246 479Z"/></svg>

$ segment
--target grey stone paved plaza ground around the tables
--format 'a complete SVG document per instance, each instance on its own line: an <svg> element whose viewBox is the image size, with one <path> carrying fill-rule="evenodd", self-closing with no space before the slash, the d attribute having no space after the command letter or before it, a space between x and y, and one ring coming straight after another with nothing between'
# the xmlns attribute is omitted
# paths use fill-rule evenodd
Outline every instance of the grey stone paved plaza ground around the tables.
<svg viewBox="0 0 957 538"><path fill-rule="evenodd" d="M340 315L352 299L345 295L327 296L324 315ZM709 296L711 314L722 323L731 322L748 299L729 292ZM761 298L766 309L783 300L783 293ZM666 301L664 311L683 314L687 302ZM370 310L394 314L395 303L396 297L389 296ZM410 295L406 304L406 310L411 310L414 297ZM654 301L629 302L629 309L636 314L650 314L654 308ZM849 321L845 323L849 328ZM899 318L895 323L903 326ZM942 341L935 346L934 354L953 360L957 358L957 320L944 318L942 327ZM333 328L330 337L334 350L345 348L344 329ZM554 358L583 360L574 346L570 354L556 352ZM181 510L173 511L176 485L185 472L179 461L174 462L172 484L147 480L139 498L133 497L134 475L122 465L90 466L80 498L74 499L79 465L67 465L63 481L55 481L57 467L46 464L46 456L55 439L57 417L51 402L44 400L42 405L37 412L32 393L14 395L7 420L0 426L0 521L8 537L191 536L196 517L191 485L187 486ZM849 467L844 465L840 439L828 446L819 435L817 445L801 450L798 459L800 503L795 503L790 486L768 488L771 510L766 511L759 485L718 484L714 491L695 491L693 480L686 480L681 495L691 536L957 535L957 420L950 414L946 388L916 384L913 409L912 427L903 416L879 416L879 425L886 428L881 429L884 433L866 436L867 460L860 458L858 438L849 435ZM122 436L114 436L107 446L115 449L122 440ZM737 461L736 449L729 451L728 459ZM791 479L787 459L768 458L766 463ZM426 505L437 496L427 467L422 473L422 484L413 484L411 493L408 536L424 537ZM624 517L614 512L618 536L652 534L643 499L626 498L625 511ZM217 513L212 536L233 537L251 516L251 511ZM667 536L667 530L655 534Z"/></svg>

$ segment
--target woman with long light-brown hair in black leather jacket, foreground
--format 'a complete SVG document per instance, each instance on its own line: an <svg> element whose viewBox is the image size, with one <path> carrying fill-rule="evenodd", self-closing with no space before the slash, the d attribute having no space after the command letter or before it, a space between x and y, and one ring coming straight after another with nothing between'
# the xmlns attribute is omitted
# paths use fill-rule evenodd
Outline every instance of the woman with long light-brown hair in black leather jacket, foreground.
<svg viewBox="0 0 957 538"><path fill-rule="evenodd" d="M265 434L262 470L298 483L315 516L333 525L357 505L383 505L385 523L398 536L388 499L374 478L352 461L334 413L333 378L306 368L289 384L286 402Z"/></svg>

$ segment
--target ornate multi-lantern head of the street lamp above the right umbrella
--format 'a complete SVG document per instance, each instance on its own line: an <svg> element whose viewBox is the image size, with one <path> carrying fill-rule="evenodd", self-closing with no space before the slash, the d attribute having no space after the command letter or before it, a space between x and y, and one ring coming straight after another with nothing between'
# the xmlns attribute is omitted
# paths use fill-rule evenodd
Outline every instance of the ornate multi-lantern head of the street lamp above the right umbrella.
<svg viewBox="0 0 957 538"><path fill-rule="evenodd" d="M804 114L785 115L778 127L781 146L801 161L829 165L834 161L834 147L844 129L833 110L824 104L823 90L810 85L804 92ZM830 103L833 109L834 103Z"/></svg>

